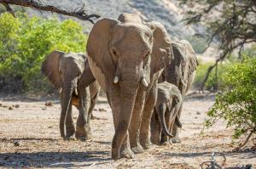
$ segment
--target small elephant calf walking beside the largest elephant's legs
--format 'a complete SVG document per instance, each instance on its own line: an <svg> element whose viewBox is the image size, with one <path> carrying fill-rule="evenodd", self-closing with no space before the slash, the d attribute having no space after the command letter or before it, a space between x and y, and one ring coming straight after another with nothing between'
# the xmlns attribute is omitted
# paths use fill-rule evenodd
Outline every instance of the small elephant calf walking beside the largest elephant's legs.
<svg viewBox="0 0 256 169"><path fill-rule="evenodd" d="M151 118L151 142L165 144L169 141L165 130L172 131L174 123L177 127L182 127L177 117L182 95L179 89L169 82L157 84L157 90L157 100Z"/></svg>

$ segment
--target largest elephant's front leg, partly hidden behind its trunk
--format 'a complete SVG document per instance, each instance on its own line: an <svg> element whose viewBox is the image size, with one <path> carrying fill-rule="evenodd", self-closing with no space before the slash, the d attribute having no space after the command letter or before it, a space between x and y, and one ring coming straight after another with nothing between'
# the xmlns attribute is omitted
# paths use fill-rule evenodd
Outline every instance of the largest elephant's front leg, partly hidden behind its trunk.
<svg viewBox="0 0 256 169"><path fill-rule="evenodd" d="M117 98L120 98L119 88L115 88L112 85L110 85L109 92L107 92L107 98L108 98L108 103L110 104L110 107L112 109L113 126L114 126L114 129L116 130L118 127L118 124L119 124L119 115L120 115L120 111L121 111L120 99L117 99ZM125 137L123 144L121 145L121 148L119 150L119 157L127 158L127 159L134 158L134 153L131 151L128 132L126 133L126 137Z"/></svg>

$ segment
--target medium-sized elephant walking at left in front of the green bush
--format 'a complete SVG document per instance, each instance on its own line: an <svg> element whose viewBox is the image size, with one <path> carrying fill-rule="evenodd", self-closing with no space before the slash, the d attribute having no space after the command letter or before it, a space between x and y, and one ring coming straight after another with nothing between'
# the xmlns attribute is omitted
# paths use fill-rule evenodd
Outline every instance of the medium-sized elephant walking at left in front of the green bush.
<svg viewBox="0 0 256 169"><path fill-rule="evenodd" d="M61 138L90 138L90 116L96 104L100 86L90 71L84 54L50 53L42 64L42 72L49 78L61 96ZM73 123L72 105L79 110L76 129ZM65 131L66 127L66 131Z"/></svg>

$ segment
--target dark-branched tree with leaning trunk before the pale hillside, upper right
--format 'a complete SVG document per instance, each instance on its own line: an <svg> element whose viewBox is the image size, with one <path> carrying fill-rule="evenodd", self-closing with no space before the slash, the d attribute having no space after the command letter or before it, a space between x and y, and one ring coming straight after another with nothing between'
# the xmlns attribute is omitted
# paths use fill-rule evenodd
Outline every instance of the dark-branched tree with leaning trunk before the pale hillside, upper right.
<svg viewBox="0 0 256 169"><path fill-rule="evenodd" d="M211 65L202 82L204 89L208 76L218 62L230 53L241 51L248 43L256 42L256 1L255 0L179 0L180 5L189 8L185 14L188 25L203 24L207 28L207 48L214 39L218 40L220 55ZM207 49L206 48L206 49ZM237 49L237 50L235 50Z"/></svg>

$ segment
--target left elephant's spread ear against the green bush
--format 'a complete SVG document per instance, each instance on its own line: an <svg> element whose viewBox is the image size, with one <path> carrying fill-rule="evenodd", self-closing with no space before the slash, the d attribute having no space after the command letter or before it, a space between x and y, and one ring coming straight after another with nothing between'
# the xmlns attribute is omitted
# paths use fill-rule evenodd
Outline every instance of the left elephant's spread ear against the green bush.
<svg viewBox="0 0 256 169"><path fill-rule="evenodd" d="M54 84L55 87L61 87L61 76L59 73L59 61L61 55L65 54L64 52L55 50L46 56L42 66L42 73L48 77L49 81Z"/></svg>

